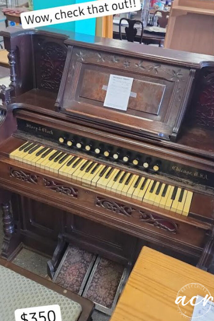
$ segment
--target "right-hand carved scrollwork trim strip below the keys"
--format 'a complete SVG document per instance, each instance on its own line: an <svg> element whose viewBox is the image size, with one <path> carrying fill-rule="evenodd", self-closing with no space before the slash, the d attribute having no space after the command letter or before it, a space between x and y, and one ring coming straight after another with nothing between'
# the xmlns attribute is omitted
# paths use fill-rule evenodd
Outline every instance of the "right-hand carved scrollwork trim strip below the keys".
<svg viewBox="0 0 214 321"><path fill-rule="evenodd" d="M171 233L176 234L177 230L178 230L178 225L172 221L163 219L163 218L153 215L151 213L136 210L135 208L128 206L128 205L118 204L112 200L109 201L105 198L99 198L97 196L96 206L100 206L106 210L113 212L113 213L122 214L122 215L125 215L128 217L133 217L135 219L137 217L137 220L139 220L139 221L151 224L161 230L165 230L165 231L168 231Z"/></svg>

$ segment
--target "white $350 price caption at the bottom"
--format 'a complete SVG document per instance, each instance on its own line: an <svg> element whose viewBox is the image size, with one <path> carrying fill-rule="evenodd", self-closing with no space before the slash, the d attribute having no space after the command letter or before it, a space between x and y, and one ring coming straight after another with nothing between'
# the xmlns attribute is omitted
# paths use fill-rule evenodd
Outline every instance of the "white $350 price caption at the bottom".
<svg viewBox="0 0 214 321"><path fill-rule="evenodd" d="M15 310L15 321L62 321L58 304Z"/></svg>

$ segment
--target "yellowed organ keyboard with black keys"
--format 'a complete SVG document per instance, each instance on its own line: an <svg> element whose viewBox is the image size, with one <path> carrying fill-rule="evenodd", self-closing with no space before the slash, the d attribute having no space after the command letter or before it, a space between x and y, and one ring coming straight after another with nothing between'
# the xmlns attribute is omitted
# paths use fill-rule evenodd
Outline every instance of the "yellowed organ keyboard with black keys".
<svg viewBox="0 0 214 321"><path fill-rule="evenodd" d="M185 216L189 213L193 192L184 188L32 142L23 143L11 152L9 157L72 178L82 184L100 187Z"/></svg>

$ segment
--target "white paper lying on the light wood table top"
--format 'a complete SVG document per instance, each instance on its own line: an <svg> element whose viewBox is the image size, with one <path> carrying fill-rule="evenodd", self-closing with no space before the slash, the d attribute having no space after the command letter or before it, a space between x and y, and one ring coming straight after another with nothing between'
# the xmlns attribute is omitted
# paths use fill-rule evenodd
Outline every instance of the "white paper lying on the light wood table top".
<svg viewBox="0 0 214 321"><path fill-rule="evenodd" d="M201 301L201 303L199 303ZM197 304L198 303L198 304ZM192 315L192 321L213 321L214 320L214 302L208 301L205 306L203 306L203 297L198 295L195 301L195 306ZM210 307L211 304L211 307Z"/></svg>

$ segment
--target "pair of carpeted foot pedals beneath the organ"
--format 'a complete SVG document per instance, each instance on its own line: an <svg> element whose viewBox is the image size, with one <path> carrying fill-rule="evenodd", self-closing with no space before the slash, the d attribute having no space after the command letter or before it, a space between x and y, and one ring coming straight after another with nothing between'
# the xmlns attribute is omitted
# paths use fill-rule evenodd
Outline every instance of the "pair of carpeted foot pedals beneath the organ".
<svg viewBox="0 0 214 321"><path fill-rule="evenodd" d="M128 275L127 267L69 244L53 282L90 299L97 310L111 315Z"/></svg>

